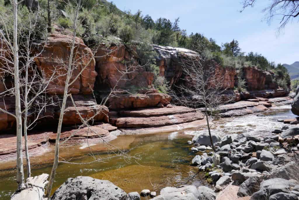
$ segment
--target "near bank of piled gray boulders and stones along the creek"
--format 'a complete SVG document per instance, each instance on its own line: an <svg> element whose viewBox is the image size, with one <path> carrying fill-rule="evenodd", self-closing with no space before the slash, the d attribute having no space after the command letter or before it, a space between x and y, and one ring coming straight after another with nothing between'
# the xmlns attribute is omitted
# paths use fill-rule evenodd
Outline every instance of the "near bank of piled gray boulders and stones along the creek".
<svg viewBox="0 0 299 200"><path fill-rule="evenodd" d="M213 135L216 153L211 151L207 134L197 135L193 141L188 141L191 151L201 154L190 160L190 164L205 173L206 180L213 188L182 185L165 187L160 192L144 189L141 192L125 193L109 181L76 177L62 184L52 199L72 196L97 196L98 199L109 196L110 199L128 200L142 197L157 200L297 199L298 127L285 125L281 130L272 130L272 134L264 138L245 133L223 138Z"/></svg>

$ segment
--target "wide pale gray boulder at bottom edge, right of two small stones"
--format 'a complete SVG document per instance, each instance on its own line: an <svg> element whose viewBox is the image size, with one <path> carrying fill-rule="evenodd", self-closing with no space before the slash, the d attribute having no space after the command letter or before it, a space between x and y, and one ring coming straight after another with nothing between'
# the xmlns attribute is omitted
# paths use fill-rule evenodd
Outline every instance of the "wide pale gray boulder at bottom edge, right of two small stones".
<svg viewBox="0 0 299 200"><path fill-rule="evenodd" d="M198 200L199 192L193 185L181 187L165 187L155 200Z"/></svg>

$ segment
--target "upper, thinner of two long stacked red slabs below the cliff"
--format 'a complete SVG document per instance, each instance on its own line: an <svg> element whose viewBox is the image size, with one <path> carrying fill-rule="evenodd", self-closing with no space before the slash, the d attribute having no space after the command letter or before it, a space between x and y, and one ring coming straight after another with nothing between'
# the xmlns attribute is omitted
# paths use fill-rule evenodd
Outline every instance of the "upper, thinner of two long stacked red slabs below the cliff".
<svg viewBox="0 0 299 200"><path fill-rule="evenodd" d="M173 106L172 108L147 108L138 110L124 110L120 111L120 115L130 117L149 117L159 115L174 115L179 113L196 112L194 109L190 109L184 106Z"/></svg>

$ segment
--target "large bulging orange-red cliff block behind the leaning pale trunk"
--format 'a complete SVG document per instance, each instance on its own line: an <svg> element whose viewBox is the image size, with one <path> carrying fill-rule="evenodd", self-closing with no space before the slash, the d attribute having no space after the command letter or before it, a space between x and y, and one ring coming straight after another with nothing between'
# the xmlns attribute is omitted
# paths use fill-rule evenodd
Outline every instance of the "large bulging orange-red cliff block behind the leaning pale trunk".
<svg viewBox="0 0 299 200"><path fill-rule="evenodd" d="M51 34L45 47L38 47L37 51L42 52L35 58L37 67L43 71L49 79L55 70L55 76L59 76L48 86L49 94L62 95L65 86L67 66L70 56L70 44L73 37L60 33ZM73 65L71 82L85 68L78 79L69 87L71 94L91 94L94 88L94 81L97 73L94 70L95 60L92 58L92 51L79 37L75 39L74 57L76 63Z"/></svg>

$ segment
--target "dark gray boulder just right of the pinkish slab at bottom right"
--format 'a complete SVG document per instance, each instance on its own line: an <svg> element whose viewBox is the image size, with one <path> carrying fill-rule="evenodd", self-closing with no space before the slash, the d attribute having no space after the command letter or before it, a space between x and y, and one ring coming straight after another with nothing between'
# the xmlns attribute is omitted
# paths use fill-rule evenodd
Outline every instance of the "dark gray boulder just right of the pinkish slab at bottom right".
<svg viewBox="0 0 299 200"><path fill-rule="evenodd" d="M239 197L251 196L253 193L260 190L260 183L262 180L263 179L258 176L249 177L240 185L237 195Z"/></svg>

